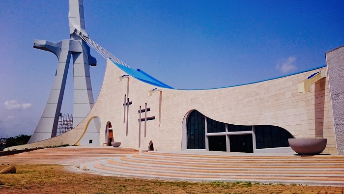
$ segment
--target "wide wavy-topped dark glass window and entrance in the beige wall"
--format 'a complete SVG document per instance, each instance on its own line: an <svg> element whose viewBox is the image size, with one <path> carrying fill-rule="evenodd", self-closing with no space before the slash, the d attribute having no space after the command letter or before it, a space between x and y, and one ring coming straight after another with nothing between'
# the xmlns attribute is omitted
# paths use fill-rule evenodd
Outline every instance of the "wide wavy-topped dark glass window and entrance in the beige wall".
<svg viewBox="0 0 344 194"><path fill-rule="evenodd" d="M282 127L223 123L205 117L197 110L193 110L185 116L184 126L186 126L186 133L183 137L186 135L187 142L184 141L185 144L183 143L182 146L185 146L186 149L253 153L254 143L256 144L255 149L288 147L288 139L294 138ZM206 139L207 141L205 141ZM253 142L254 139L256 142Z"/></svg>

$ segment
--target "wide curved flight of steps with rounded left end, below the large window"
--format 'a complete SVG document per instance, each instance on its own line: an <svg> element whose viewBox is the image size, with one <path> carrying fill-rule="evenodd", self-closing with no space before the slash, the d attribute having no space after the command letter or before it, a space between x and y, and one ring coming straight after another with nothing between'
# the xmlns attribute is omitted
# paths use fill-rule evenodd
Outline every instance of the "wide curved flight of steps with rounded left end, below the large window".
<svg viewBox="0 0 344 194"><path fill-rule="evenodd" d="M148 152L93 162L87 168L152 179L344 186L343 156L214 156Z"/></svg>

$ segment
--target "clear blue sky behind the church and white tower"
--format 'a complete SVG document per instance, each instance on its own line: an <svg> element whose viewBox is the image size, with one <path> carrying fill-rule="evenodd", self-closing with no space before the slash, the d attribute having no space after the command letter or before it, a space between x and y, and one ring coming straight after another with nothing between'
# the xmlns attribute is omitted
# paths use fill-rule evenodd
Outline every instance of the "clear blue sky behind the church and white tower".
<svg viewBox="0 0 344 194"><path fill-rule="evenodd" d="M67 0L0 0L0 138L33 133L57 67L57 57L33 49L33 40L69 39L68 9ZM84 0L91 39L178 89L325 65L325 52L344 45L343 10L343 0ZM96 99L106 61L91 54ZM72 75L63 113L73 112Z"/></svg>

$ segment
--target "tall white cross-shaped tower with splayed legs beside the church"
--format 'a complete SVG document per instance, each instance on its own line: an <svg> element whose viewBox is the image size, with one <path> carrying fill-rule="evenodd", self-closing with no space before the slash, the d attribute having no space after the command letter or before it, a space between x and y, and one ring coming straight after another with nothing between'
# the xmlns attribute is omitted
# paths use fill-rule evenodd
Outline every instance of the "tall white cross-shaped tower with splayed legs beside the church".
<svg viewBox="0 0 344 194"><path fill-rule="evenodd" d="M73 58L74 74L73 128L86 117L94 105L89 65L96 66L97 61L90 55L90 49L86 42L77 35L81 34L88 37L85 28L83 0L69 0L68 19L70 29L69 40L62 40L57 43L45 40L34 40L33 42L33 48L55 54L58 63L47 105L28 143L50 139L56 136L58 117L61 111L71 56ZM91 132L98 133L99 136L97 130L91 130ZM94 143L97 143L97 141L94 141Z"/></svg>

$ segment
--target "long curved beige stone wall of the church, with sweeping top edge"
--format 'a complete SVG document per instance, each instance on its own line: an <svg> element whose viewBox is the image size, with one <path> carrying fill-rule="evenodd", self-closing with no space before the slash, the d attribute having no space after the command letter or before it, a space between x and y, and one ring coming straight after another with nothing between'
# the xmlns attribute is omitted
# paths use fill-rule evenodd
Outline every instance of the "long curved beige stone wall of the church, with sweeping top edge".
<svg viewBox="0 0 344 194"><path fill-rule="evenodd" d="M80 138L87 122L92 117L98 116L101 121L101 145L105 143L106 124L110 121L115 141L122 142L124 147L147 149L149 141L152 140L154 149L181 150L183 118L188 111L195 109L211 119L229 124L276 125L288 130L295 138L327 138L328 143L324 153L336 154L327 78L313 84L309 93L298 93L297 90L299 82L322 69L324 68L280 79L220 89L163 88L162 92L155 92L148 97L147 92L156 86L143 83L133 77L118 82L118 77L126 73L108 60L99 97L85 120L63 137L48 139L44 143L54 144L63 139L63 142L72 144L73 140ZM129 101L133 104L129 106L128 136L126 136L123 103L124 95L128 91ZM144 137L144 122L142 122L141 147L139 147L138 110L140 106L144 109L145 103L150 108L147 116L155 116L156 119L147 121L146 137ZM144 116L144 113L142 115Z"/></svg>

